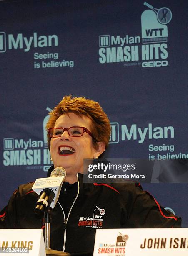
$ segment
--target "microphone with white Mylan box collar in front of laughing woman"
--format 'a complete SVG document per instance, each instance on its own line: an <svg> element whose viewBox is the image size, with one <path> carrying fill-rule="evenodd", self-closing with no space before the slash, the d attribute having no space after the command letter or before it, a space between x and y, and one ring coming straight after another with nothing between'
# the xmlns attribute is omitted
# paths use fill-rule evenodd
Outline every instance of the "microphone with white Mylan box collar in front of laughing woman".
<svg viewBox="0 0 188 256"><path fill-rule="evenodd" d="M36 179L32 187L33 191L39 195L34 210L36 215L41 215L49 206L55 207L65 177L65 169L63 167L56 167L51 172L50 178Z"/></svg>

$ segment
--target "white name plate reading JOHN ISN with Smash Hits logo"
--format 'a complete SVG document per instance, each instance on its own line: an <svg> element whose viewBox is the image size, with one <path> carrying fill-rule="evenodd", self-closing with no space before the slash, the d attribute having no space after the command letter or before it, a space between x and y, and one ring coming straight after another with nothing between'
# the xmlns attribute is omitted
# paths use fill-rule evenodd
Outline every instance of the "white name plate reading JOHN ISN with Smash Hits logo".
<svg viewBox="0 0 188 256"><path fill-rule="evenodd" d="M188 228L97 229L94 256L188 256Z"/></svg>

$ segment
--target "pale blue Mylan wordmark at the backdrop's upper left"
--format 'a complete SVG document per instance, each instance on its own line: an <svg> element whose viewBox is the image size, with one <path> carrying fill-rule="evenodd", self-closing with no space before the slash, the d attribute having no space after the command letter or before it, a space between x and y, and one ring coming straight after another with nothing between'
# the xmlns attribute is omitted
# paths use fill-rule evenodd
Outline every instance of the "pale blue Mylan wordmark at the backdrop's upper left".
<svg viewBox="0 0 188 256"><path fill-rule="evenodd" d="M23 49L27 52L31 47L37 48L47 46L58 46L58 36L38 36L37 32L33 32L32 36L26 37L22 33L18 33L17 35L6 35L5 32L0 32L0 52L5 52L7 49Z"/></svg>

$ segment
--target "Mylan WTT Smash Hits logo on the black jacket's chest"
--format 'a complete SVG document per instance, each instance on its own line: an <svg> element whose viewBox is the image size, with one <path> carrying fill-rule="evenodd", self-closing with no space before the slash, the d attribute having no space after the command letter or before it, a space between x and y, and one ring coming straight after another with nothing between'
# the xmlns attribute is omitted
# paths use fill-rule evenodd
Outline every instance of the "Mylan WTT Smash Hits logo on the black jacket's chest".
<svg viewBox="0 0 188 256"><path fill-rule="evenodd" d="M95 206L95 210L93 211L93 217L80 217L78 226L85 226L89 228L102 228L103 226L103 218L105 215L105 209L99 208Z"/></svg>

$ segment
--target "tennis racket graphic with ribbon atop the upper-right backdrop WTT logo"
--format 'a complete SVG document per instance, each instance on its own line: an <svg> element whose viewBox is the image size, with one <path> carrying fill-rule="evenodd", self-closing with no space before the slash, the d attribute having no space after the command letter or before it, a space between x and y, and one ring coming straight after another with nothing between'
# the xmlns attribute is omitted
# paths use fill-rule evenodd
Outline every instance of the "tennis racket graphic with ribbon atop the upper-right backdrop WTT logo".
<svg viewBox="0 0 188 256"><path fill-rule="evenodd" d="M157 9L147 2L144 2L144 5L153 10L157 14L157 20L159 23L168 24L172 19L172 12L169 8L162 7L160 9Z"/></svg>

